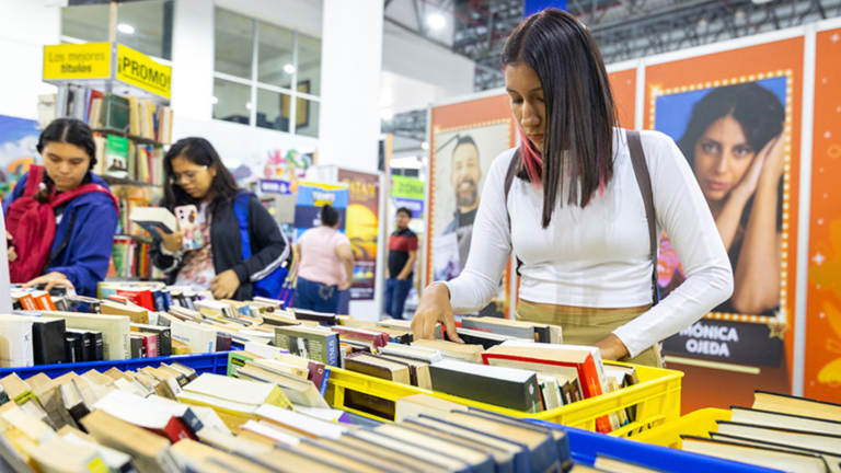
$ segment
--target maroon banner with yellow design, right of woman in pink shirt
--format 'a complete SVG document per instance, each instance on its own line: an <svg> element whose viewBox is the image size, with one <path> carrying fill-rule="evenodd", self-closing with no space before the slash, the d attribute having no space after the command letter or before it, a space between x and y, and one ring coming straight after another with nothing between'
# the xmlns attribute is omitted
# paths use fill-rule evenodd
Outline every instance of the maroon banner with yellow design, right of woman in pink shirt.
<svg viewBox="0 0 841 473"><path fill-rule="evenodd" d="M373 300L377 290L380 176L339 169L338 181L349 185L346 229L356 264L350 300Z"/></svg>

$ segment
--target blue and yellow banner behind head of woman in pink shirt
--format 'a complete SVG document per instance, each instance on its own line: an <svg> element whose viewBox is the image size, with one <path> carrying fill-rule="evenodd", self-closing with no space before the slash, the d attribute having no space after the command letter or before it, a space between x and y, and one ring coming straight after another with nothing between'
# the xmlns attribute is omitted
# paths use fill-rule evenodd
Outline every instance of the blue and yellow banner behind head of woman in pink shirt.
<svg viewBox="0 0 841 473"><path fill-rule="evenodd" d="M295 206L295 240L314 227L321 224L321 208L330 204L338 210L342 221L338 231L345 233L349 193L344 184L298 183L298 198Z"/></svg>

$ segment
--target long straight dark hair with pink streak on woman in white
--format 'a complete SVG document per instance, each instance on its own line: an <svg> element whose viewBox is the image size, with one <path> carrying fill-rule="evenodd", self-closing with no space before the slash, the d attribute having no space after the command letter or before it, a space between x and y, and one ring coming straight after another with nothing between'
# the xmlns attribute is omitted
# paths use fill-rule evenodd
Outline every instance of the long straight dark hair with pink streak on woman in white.
<svg viewBox="0 0 841 473"><path fill-rule="evenodd" d="M540 176L546 228L558 201L585 207L613 178L618 118L608 72L589 30L555 9L520 23L506 42L502 59L505 66L534 69L543 88L546 118ZM530 146L528 140L520 143ZM572 176L568 189L563 186L565 174ZM525 170L518 176L529 180Z"/></svg>

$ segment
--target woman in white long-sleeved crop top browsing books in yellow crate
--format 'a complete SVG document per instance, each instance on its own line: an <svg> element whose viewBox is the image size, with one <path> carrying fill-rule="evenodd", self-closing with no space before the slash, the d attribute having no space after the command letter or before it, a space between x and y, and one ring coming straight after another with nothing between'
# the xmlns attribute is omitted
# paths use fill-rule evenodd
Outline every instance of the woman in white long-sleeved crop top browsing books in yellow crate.
<svg viewBox="0 0 841 473"><path fill-rule="evenodd" d="M466 268L426 288L415 337L433 338L441 322L460 342L453 313L487 304L514 254L518 320L561 325L564 343L596 346L603 359L660 366L658 343L733 292L727 253L692 170L665 135L615 127L598 46L568 13L530 16L502 59L521 145L492 164ZM653 274L664 230L688 277L657 303Z"/></svg>

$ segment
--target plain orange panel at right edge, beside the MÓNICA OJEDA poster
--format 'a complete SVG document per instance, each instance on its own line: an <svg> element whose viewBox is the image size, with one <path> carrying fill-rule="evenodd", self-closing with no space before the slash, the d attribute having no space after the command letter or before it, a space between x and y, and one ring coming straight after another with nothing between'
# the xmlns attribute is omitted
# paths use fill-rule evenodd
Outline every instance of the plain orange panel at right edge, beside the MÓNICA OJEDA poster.
<svg viewBox="0 0 841 473"><path fill-rule="evenodd" d="M841 30L818 33L804 395L841 399Z"/></svg>

